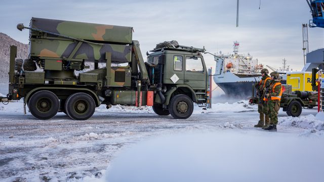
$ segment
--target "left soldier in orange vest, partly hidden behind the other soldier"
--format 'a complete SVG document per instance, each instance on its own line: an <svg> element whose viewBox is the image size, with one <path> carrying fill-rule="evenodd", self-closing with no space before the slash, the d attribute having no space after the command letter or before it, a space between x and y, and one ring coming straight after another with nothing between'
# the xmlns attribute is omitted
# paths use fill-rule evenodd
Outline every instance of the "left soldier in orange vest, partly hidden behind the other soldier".
<svg viewBox="0 0 324 182"><path fill-rule="evenodd" d="M260 120L258 124L254 125L254 127L268 127L270 125L270 119L269 119L269 113L267 109L267 103L266 101L263 101L264 98L264 90L267 89L270 85L270 76L269 71L267 69L261 70L262 79L260 82L256 85L259 93L259 104L258 104L258 112L260 113Z"/></svg>

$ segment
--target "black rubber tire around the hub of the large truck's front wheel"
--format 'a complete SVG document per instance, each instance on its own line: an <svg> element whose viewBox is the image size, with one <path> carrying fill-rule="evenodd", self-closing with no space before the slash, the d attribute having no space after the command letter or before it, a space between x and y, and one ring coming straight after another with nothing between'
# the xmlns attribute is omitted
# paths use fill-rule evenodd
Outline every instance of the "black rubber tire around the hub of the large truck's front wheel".
<svg viewBox="0 0 324 182"><path fill-rule="evenodd" d="M185 113L177 112L177 104L181 101L186 102L188 105L187 112L185 112ZM174 117L175 119L187 119L188 117L191 116L191 114L193 112L193 102L188 96L186 96L184 94L176 95L170 101L169 112L170 112L171 116Z"/></svg>

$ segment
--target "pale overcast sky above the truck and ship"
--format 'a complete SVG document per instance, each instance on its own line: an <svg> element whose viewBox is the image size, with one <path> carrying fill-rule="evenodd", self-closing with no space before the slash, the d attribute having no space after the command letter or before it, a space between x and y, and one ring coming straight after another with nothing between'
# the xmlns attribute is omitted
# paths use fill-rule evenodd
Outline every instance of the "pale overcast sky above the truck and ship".
<svg viewBox="0 0 324 182"><path fill-rule="evenodd" d="M240 53L250 53L264 65L279 68L286 58L291 68L302 69L302 23L311 19L306 0L261 0L261 9L259 0L245 0L239 8L236 27L236 0L3 1L0 32L28 43L28 31L20 32L16 25L29 25L31 17L132 26L144 57L165 40L205 46L211 53L231 53L237 40ZM324 28L308 28L308 35L310 51L324 47ZM214 68L212 56L205 60Z"/></svg>

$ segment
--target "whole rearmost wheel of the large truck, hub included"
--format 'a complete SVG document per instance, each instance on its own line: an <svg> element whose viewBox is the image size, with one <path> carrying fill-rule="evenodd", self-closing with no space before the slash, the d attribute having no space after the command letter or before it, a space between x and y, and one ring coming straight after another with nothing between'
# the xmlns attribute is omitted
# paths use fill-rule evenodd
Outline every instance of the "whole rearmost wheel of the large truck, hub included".
<svg viewBox="0 0 324 182"><path fill-rule="evenodd" d="M30 97L28 108L35 118L46 120L57 114L60 109L60 102L54 93L41 90Z"/></svg>

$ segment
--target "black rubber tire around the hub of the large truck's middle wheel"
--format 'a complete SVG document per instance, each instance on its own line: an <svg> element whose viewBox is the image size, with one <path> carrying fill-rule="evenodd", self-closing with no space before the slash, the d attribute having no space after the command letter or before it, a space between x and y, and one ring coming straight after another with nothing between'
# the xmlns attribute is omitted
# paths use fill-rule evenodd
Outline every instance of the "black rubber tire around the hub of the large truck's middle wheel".
<svg viewBox="0 0 324 182"><path fill-rule="evenodd" d="M80 115L73 109L74 102L82 99L88 103L88 112L86 114ZM65 113L74 120L87 120L95 113L96 104L93 98L86 93L75 93L69 96L65 102Z"/></svg>

